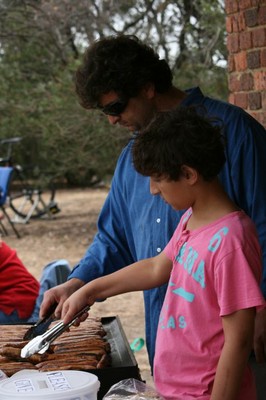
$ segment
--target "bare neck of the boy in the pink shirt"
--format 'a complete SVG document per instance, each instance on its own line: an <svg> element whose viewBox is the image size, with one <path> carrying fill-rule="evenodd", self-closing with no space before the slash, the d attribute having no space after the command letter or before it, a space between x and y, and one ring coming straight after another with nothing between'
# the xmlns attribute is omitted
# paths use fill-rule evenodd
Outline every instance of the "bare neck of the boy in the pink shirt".
<svg viewBox="0 0 266 400"><path fill-rule="evenodd" d="M234 211L239 211L239 208L229 198L218 179L206 182L204 187L199 189L196 201L192 205L192 215L187 229L201 228Z"/></svg>

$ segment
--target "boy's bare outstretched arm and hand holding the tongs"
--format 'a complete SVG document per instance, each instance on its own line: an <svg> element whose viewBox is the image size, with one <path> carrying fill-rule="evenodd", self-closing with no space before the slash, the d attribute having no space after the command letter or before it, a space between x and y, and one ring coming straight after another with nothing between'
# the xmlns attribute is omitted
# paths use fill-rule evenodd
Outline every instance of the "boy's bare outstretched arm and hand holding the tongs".
<svg viewBox="0 0 266 400"><path fill-rule="evenodd" d="M62 308L64 323L85 306L98 299L118 294L151 289L166 283L170 277L172 261L162 252L156 257L138 261L108 276L95 279L73 293Z"/></svg>

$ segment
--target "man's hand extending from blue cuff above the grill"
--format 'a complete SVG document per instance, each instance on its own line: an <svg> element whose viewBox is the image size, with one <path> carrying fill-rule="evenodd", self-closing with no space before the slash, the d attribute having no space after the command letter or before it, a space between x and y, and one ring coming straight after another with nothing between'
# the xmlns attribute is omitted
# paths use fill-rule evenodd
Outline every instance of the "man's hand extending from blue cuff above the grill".
<svg viewBox="0 0 266 400"><path fill-rule="evenodd" d="M61 285L55 286L44 293L43 302L40 307L40 318L47 316L47 313L53 304L58 304L55 309L55 317L60 318L62 307L64 302L72 295L76 290L81 288L84 282L80 279L73 278L69 281L62 283Z"/></svg>

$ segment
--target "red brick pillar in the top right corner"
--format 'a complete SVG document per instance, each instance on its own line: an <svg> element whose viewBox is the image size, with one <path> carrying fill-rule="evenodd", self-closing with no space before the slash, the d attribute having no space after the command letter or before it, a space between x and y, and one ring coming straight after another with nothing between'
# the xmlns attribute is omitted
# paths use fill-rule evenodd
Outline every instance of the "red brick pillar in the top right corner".
<svg viewBox="0 0 266 400"><path fill-rule="evenodd" d="M229 102L266 128L266 0L225 0Z"/></svg>

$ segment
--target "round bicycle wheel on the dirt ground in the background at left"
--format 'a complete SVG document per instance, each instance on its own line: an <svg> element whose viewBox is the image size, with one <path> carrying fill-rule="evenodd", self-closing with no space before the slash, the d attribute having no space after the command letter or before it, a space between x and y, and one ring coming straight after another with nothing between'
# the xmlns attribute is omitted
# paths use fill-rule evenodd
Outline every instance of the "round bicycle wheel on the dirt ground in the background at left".
<svg viewBox="0 0 266 400"><path fill-rule="evenodd" d="M9 205L16 222L30 218L52 216L59 212L54 200L55 187L50 178L39 174L38 179L26 179L20 167L15 167L9 188Z"/></svg>

